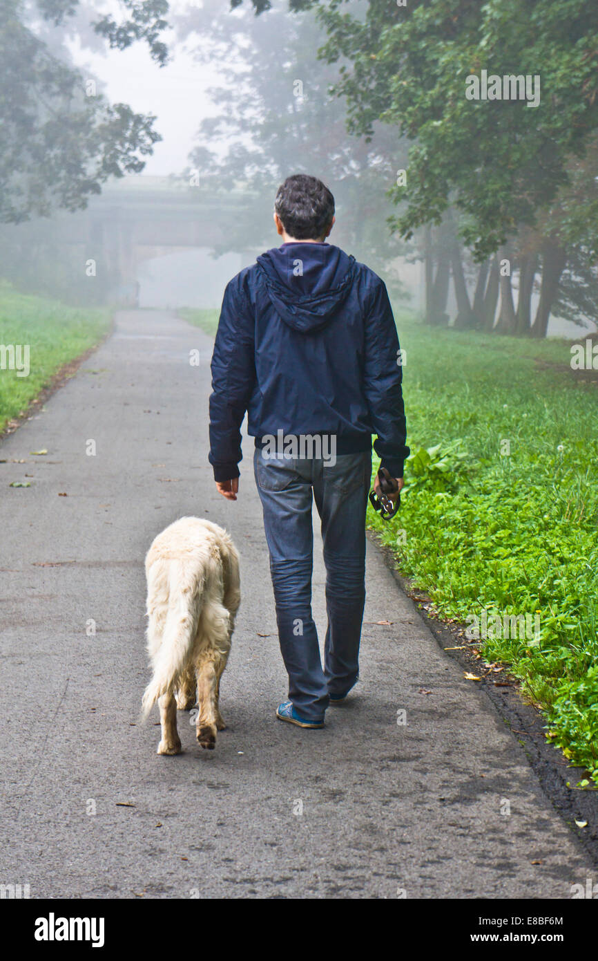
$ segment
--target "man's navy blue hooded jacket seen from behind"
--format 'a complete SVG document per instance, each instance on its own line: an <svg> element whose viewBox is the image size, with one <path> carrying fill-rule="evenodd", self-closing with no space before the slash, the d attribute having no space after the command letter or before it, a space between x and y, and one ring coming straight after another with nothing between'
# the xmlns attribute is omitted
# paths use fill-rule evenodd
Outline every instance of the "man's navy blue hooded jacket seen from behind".
<svg viewBox="0 0 598 961"><path fill-rule="evenodd" d="M327 243L284 243L228 284L212 355L209 462L239 476L241 424L265 434L332 434L338 455L374 450L403 476L405 413L386 286Z"/></svg>

